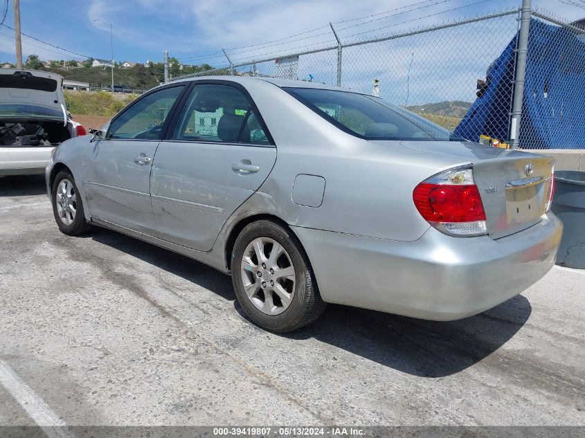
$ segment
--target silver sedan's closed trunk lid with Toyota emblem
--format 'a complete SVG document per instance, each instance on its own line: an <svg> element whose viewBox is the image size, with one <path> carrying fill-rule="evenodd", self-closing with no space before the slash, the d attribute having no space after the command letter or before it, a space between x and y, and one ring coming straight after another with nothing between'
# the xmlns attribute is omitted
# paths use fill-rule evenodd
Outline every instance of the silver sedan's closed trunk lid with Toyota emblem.
<svg viewBox="0 0 585 438"><path fill-rule="evenodd" d="M402 142L404 147L469 161L485 209L487 232L499 239L529 228L546 213L554 158L477 143Z"/></svg>

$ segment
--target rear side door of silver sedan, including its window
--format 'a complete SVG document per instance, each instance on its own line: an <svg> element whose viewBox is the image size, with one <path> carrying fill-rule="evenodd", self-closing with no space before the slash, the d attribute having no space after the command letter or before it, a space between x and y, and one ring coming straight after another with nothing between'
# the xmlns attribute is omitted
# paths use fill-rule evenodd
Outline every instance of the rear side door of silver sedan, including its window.
<svg viewBox="0 0 585 438"><path fill-rule="evenodd" d="M258 190L276 147L249 94L232 82L198 83L156 151L156 235L207 251L226 219Z"/></svg>

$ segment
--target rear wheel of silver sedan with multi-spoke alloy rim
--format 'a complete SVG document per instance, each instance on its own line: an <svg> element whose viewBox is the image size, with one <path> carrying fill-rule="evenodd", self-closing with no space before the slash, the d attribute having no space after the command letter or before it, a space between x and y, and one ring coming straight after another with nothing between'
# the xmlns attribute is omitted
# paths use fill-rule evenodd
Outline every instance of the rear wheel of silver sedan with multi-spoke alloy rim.
<svg viewBox="0 0 585 438"><path fill-rule="evenodd" d="M235 241L232 282L253 322L286 332L316 320L325 302L307 255L290 230L271 221L253 222Z"/></svg>

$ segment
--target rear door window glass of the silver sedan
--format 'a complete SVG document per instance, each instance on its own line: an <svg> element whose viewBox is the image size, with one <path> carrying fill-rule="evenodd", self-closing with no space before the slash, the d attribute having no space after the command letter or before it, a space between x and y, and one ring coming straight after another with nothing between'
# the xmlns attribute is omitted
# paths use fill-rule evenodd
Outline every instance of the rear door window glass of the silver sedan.
<svg viewBox="0 0 585 438"><path fill-rule="evenodd" d="M269 143L246 96L237 88L222 84L195 86L172 138Z"/></svg>

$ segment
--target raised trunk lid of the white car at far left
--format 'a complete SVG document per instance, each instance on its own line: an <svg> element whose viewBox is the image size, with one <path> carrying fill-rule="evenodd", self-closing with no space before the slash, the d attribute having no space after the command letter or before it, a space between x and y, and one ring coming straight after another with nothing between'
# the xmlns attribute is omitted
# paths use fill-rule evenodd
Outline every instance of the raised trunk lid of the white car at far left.
<svg viewBox="0 0 585 438"><path fill-rule="evenodd" d="M55 73L0 69L0 118L63 120L62 82Z"/></svg>

